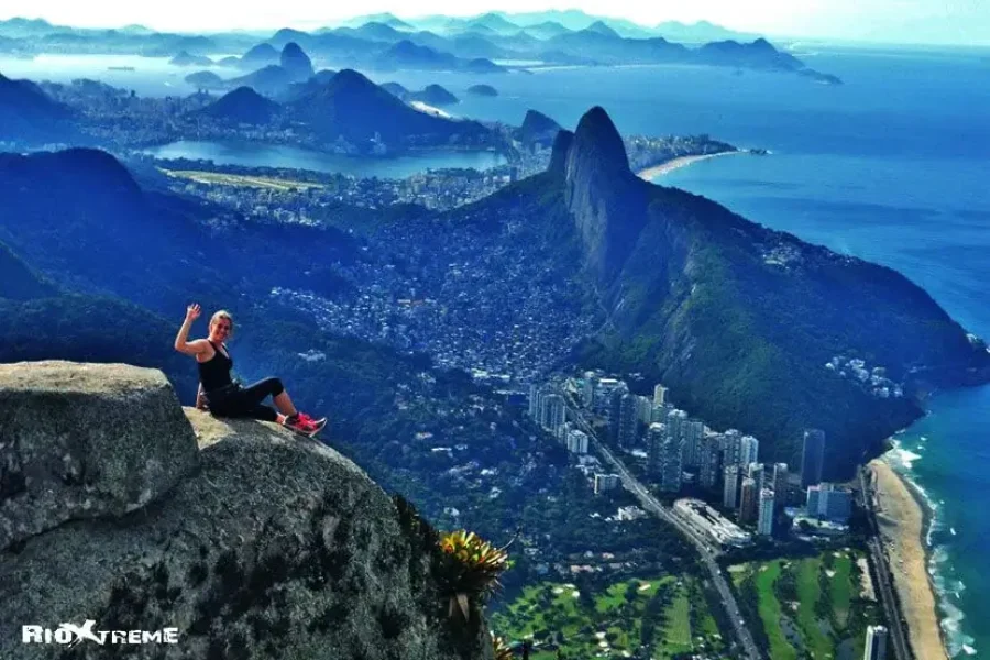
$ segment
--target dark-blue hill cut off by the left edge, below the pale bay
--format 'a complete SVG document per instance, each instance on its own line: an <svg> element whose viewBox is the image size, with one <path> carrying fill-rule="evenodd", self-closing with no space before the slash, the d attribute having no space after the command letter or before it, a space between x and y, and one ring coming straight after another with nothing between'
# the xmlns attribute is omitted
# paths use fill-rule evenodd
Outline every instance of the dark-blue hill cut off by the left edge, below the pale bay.
<svg viewBox="0 0 990 660"><path fill-rule="evenodd" d="M61 142L77 135L73 111L30 80L0 74L0 140Z"/></svg>

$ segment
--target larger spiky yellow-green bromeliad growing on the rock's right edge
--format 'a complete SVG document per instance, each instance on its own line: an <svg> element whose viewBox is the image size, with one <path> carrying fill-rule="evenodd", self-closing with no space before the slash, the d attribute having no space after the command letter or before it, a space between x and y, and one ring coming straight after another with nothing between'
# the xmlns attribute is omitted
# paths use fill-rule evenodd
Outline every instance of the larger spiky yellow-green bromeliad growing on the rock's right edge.
<svg viewBox="0 0 990 660"><path fill-rule="evenodd" d="M515 539L514 539L515 540ZM450 594L448 615L458 612L469 620L469 602L484 602L502 587L498 576L509 566L506 549L495 548L473 531L460 529L440 537L446 560L446 591Z"/></svg>

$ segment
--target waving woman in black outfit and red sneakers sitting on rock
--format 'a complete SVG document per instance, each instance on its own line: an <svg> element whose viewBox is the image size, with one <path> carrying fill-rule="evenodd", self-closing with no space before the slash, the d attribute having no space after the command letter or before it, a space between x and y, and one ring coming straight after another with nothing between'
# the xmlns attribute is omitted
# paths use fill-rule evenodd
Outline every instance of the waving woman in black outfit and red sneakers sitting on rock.
<svg viewBox="0 0 990 660"><path fill-rule="evenodd" d="M190 305L186 309L186 320L175 338L175 350L196 358L199 364L197 408L206 404L210 413L218 417L250 417L275 421L309 437L316 436L327 426L326 418L312 419L296 410L278 378L265 378L248 387L234 383L230 377L233 360L223 343L233 332L233 319L229 312L220 310L210 319L210 336L207 339L188 341L189 328L200 314L199 305ZM278 411L262 405L270 396Z"/></svg>

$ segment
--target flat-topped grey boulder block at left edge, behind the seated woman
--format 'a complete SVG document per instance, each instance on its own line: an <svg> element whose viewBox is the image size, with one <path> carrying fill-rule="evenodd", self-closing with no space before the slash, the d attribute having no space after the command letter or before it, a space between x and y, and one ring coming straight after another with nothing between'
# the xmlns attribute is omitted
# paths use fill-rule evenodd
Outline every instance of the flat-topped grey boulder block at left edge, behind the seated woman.
<svg viewBox="0 0 990 660"><path fill-rule="evenodd" d="M133 512L198 462L158 371L0 365L0 550L68 520Z"/></svg>

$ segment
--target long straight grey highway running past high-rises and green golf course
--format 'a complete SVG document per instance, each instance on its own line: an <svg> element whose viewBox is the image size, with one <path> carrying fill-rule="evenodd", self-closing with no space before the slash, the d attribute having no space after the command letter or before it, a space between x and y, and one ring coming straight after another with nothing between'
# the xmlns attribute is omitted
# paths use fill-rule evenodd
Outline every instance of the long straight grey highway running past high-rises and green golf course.
<svg viewBox="0 0 990 660"><path fill-rule="evenodd" d="M673 510L660 504L660 502L658 502L657 498L653 497L650 492L629 473L628 470L626 470L626 466L623 464L623 462L616 459L608 450L608 448L598 440L597 435L592 429L591 425L584 419L583 413L574 404L570 395L568 396L568 399L571 404L569 408L571 409L574 419L578 421L578 425L584 430L585 433L587 433L591 443L598 451L598 453L605 457L605 460L622 477L623 486L625 486L627 491L632 493L637 497L637 499L639 499L644 509L656 515L664 522L674 526L678 531L680 531L689 541L694 543L694 547L697 549L698 553L702 557L702 562L708 570L708 574L712 579L712 584L715 585L715 590L718 592L718 595L722 598L722 605L725 608L725 613L728 615L729 620L733 623L733 629L736 632L736 639L738 639L741 644L746 657L749 660L761 660L762 656L760 654L760 650L757 648L756 642L752 640L752 636L746 628L746 623L743 619L743 613L739 612L739 606L736 604L736 597L733 595L728 582L726 582L725 576L722 574L722 569L715 561L715 558L718 557L718 553L715 550L710 549L714 541L698 536L684 521L678 518Z"/></svg>

